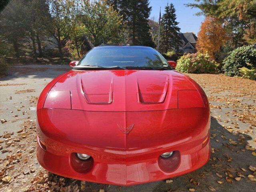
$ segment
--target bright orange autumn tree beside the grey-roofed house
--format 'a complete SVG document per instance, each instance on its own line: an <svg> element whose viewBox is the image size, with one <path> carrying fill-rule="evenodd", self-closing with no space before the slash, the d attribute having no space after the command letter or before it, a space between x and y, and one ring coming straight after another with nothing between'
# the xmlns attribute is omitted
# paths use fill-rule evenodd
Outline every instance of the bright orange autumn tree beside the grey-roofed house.
<svg viewBox="0 0 256 192"><path fill-rule="evenodd" d="M196 49L198 52L208 52L210 58L214 59L218 52L228 40L227 32L217 18L207 16L202 22L198 32Z"/></svg>

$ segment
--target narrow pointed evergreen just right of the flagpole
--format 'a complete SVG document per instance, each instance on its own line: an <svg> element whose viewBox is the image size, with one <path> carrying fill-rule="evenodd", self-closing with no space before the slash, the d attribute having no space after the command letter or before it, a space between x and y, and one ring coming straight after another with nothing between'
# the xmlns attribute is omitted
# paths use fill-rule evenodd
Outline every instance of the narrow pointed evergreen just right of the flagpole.
<svg viewBox="0 0 256 192"><path fill-rule="evenodd" d="M167 3L160 26L160 52L166 53L171 50L178 50L181 44L178 34L179 31L180 28L178 27L178 22L176 22L175 8L172 3L170 5Z"/></svg>

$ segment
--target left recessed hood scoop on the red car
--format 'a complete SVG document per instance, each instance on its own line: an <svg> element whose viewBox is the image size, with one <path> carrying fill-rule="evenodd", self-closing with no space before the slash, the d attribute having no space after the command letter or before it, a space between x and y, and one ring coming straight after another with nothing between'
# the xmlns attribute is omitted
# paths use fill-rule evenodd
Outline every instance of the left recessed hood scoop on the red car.
<svg viewBox="0 0 256 192"><path fill-rule="evenodd" d="M97 83L90 82L90 85L86 86L86 83L83 83L81 79L81 93L84 97L84 100L88 104L111 104L113 98L113 80L111 79L105 87L103 87L98 92L90 92L90 88L99 86Z"/></svg>

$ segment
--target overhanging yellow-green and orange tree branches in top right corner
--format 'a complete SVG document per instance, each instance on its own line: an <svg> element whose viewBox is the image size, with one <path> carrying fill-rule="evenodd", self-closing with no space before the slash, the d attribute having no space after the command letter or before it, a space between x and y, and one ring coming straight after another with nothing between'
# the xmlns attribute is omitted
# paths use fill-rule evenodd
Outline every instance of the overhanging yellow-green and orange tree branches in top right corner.
<svg viewBox="0 0 256 192"><path fill-rule="evenodd" d="M235 34L232 36L240 38L239 42L246 40L250 44L256 43L256 0L195 1L195 3L186 5L192 8L199 8L201 12L198 12L197 15L213 16L222 20L223 24L229 29L233 27ZM234 26L234 20L236 26ZM240 32L236 29L240 30ZM236 40L236 38L232 38L232 40ZM246 44L245 41L244 43ZM233 42L233 44L236 45L237 43Z"/></svg>

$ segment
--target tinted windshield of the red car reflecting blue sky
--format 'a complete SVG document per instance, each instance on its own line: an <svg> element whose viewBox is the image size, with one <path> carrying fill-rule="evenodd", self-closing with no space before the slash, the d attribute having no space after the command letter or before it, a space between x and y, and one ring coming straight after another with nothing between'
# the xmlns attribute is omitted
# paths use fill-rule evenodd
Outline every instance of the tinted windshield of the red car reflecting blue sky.
<svg viewBox="0 0 256 192"><path fill-rule="evenodd" d="M90 50L78 63L103 68L170 68L164 57L150 47L102 46Z"/></svg>

